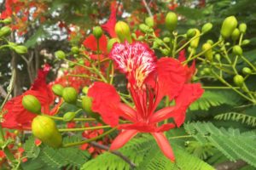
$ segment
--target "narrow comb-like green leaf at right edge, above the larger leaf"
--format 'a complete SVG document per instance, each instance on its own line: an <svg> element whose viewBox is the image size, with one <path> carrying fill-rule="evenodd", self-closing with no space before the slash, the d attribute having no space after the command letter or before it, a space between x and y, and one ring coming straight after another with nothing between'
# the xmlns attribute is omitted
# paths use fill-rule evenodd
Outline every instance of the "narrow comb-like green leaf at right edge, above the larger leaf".
<svg viewBox="0 0 256 170"><path fill-rule="evenodd" d="M252 127L256 126L255 116L249 116L249 115L236 113L236 112L223 113L218 116L214 116L214 118L217 120L224 120L224 121L231 120L231 121L241 122Z"/></svg>

